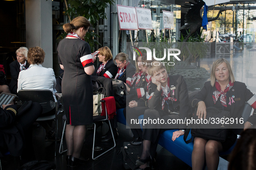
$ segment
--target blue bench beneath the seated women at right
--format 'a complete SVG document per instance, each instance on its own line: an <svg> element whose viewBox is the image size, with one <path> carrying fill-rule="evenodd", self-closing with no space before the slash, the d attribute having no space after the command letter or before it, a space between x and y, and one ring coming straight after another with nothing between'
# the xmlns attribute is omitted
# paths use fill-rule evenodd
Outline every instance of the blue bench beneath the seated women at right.
<svg viewBox="0 0 256 170"><path fill-rule="evenodd" d="M248 120L251 111L252 111L252 107L246 103L243 109L243 114L242 114L244 120ZM143 119L143 115L140 115L139 119ZM117 109L117 121L126 125L126 119L123 115L123 109ZM176 157L181 159L181 161L185 162L190 167L192 167L191 156L192 156L194 144L193 142L186 144L183 139L183 136L178 137L173 142L172 133L175 132L176 130L178 129L172 129L172 130L167 130L163 132L160 135L159 145L161 145L163 148L165 148L166 150L174 154ZM191 133L189 132L188 139L190 138L191 138ZM228 151L220 152L220 156L230 154L233 148L235 147L236 143Z"/></svg>

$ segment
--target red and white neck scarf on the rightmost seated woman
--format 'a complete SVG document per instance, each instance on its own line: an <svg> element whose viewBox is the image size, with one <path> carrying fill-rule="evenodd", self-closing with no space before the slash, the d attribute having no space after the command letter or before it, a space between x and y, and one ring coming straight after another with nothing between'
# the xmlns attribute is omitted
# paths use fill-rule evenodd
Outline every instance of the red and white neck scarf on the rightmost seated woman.
<svg viewBox="0 0 256 170"><path fill-rule="evenodd" d="M214 100L214 104L216 104L218 98L220 98L221 105L224 107L227 107L227 96L226 93L230 91L230 89L233 87L234 83L231 83L231 81L227 84L227 87L224 91L221 90L219 82L216 80L215 87L217 90L215 90L212 94L212 98Z"/></svg>

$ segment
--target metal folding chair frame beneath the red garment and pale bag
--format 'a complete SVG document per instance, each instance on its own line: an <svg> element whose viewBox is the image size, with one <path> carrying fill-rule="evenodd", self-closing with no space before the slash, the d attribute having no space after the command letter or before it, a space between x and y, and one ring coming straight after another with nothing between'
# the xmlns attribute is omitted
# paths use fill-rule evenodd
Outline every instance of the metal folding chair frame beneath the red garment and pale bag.
<svg viewBox="0 0 256 170"><path fill-rule="evenodd" d="M105 101L101 100L101 102L105 102ZM113 131L112 131L111 123L110 123L110 120L108 120L106 105L105 105L105 110L106 110L106 116L93 116L94 137L93 137L93 149L92 149L92 156L91 156L93 160L96 160L98 157L102 156L103 154L107 153L108 151L110 151L110 150L112 150L113 148L116 147L116 141L115 141L114 134L113 134ZM96 134L96 124L95 123L97 121L108 121L109 126L110 126L110 130L111 130L111 134L112 134L112 138L113 138L113 142L114 142L114 146L111 147L110 149L108 149L107 151L105 151L104 153L98 155L97 157L94 157L94 144L95 144L95 134Z"/></svg>

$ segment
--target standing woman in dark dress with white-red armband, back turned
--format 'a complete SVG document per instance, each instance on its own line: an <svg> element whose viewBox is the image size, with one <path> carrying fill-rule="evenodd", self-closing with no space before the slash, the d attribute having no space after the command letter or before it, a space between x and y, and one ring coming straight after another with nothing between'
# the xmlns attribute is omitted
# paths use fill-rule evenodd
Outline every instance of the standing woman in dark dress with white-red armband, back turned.
<svg viewBox="0 0 256 170"><path fill-rule="evenodd" d="M68 33L58 44L58 61L64 72L62 96L67 116L66 142L67 165L74 167L84 164L88 159L81 159L86 125L93 123L93 87L91 76L94 72L94 60L90 46L83 37L90 22L78 16L63 25Z"/></svg>

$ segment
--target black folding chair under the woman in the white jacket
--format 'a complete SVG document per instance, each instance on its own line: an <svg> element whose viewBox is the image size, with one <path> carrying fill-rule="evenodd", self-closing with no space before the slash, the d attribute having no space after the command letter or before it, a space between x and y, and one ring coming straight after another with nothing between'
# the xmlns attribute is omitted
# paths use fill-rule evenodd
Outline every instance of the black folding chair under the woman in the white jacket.
<svg viewBox="0 0 256 170"><path fill-rule="evenodd" d="M52 91L50 90L20 90L18 92L19 100L21 101L33 101L38 102L42 106L42 116L40 116L36 121L46 121L55 119L55 156L57 152L57 136L58 136L58 114L62 111L58 110L57 102L55 102ZM46 114L50 111L53 114Z"/></svg>

